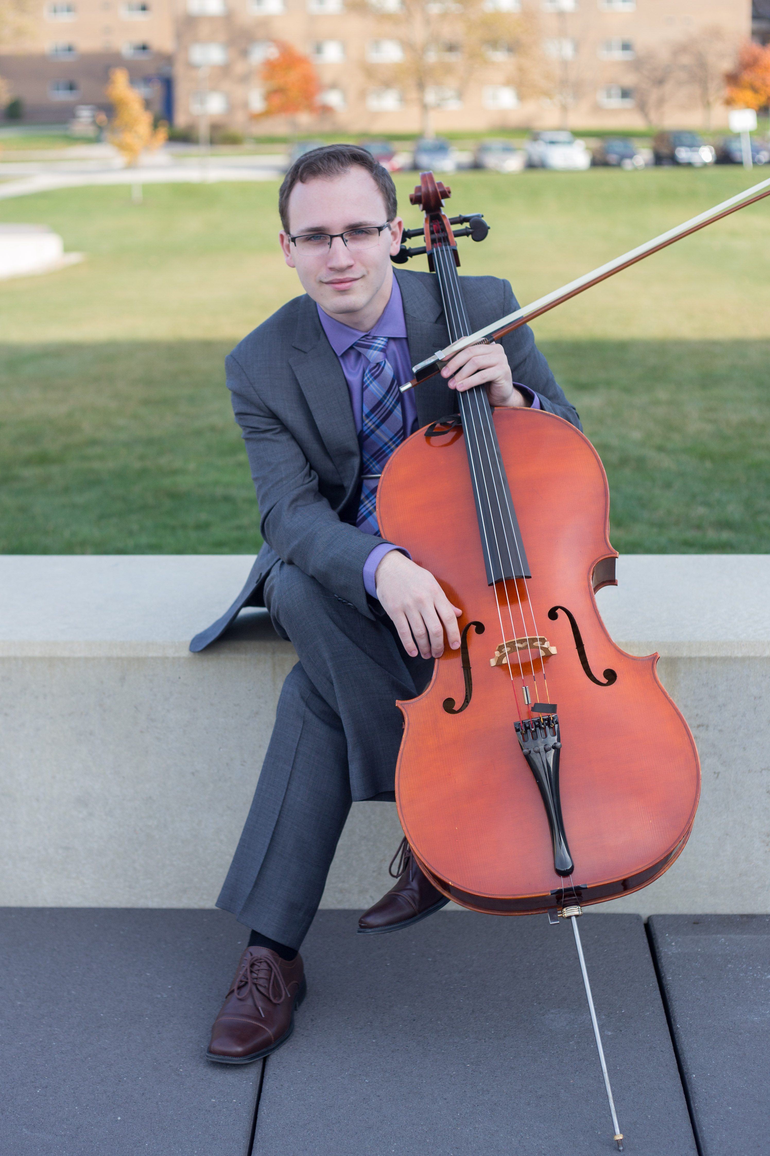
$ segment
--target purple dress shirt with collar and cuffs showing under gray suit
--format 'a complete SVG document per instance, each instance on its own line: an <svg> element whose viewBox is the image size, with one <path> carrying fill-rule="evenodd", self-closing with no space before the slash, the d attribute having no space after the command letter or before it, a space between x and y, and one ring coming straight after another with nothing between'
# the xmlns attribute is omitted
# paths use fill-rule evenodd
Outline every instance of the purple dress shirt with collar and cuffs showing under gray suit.
<svg viewBox="0 0 770 1156"><path fill-rule="evenodd" d="M333 317L330 317L328 313L324 312L320 305L317 304L316 307L318 309L318 318L324 328L324 333L328 338L328 343L340 360L345 379L348 383L348 392L350 394L350 405L353 407L353 420L356 425L356 432L361 433L361 427L363 424L363 376L368 362L361 350L355 349L354 346L358 338L363 338L364 334L361 329L351 329L349 325L335 321ZM401 290L399 289L399 283L395 277L393 277L393 288L391 289L390 301L383 310L379 320L372 325L371 329L369 329L369 335L372 338L388 339L385 348L385 356L395 373L395 380L399 385L403 385L405 381L408 381L412 377L412 358L409 356L409 346L407 342L403 302L401 299ZM518 385L518 383L514 383L514 385L518 390L532 399L530 405L533 409L540 408L540 398L536 393L533 393L533 391L527 388L526 385ZM414 433L417 428L417 405L412 391L401 394L401 416L403 418L405 436ZM364 529L363 533L370 533L370 531ZM406 554L408 558L412 557L408 550L405 550L400 546L393 546L390 542L383 542L382 546L376 546L364 562L363 568L364 590L370 598L377 598L375 571L388 550L401 550L401 554Z"/></svg>

